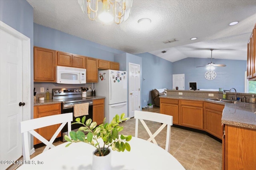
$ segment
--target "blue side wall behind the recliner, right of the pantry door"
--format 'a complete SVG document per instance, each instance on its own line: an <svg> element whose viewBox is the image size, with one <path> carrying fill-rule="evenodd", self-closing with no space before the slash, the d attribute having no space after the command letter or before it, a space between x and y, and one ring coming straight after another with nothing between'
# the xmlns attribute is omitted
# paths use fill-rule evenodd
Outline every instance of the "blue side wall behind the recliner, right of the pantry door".
<svg viewBox="0 0 256 170"><path fill-rule="evenodd" d="M142 58L142 107L154 104L150 91L155 88L172 89L172 62L164 60L150 53L141 53ZM145 80L143 80L145 78Z"/></svg>

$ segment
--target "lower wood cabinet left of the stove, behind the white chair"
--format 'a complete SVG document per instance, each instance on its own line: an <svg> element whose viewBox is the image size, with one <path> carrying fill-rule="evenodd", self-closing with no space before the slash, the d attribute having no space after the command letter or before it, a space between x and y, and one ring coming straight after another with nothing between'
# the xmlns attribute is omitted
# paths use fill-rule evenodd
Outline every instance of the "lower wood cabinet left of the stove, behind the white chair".
<svg viewBox="0 0 256 170"><path fill-rule="evenodd" d="M34 106L34 119L58 114L61 114L61 104ZM36 129L35 131L42 135L42 137L44 137L45 139L50 140L59 127L60 124L51 125L47 127L42 127L40 129ZM57 137L61 137L61 133L59 133ZM38 143L42 142L34 137L34 145Z"/></svg>

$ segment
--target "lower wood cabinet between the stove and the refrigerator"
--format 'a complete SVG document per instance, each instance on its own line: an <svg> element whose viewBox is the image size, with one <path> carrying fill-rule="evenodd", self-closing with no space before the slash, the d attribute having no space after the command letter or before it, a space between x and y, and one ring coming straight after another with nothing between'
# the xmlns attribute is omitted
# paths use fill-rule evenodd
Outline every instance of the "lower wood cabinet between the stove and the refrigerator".
<svg viewBox="0 0 256 170"><path fill-rule="evenodd" d="M93 100L92 121L96 121L97 125L103 123L104 119L104 99Z"/></svg>

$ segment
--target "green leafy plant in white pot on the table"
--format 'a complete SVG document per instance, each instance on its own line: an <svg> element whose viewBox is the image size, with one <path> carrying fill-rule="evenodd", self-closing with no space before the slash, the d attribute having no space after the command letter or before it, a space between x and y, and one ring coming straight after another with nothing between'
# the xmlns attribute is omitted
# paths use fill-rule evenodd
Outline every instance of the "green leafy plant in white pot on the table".
<svg viewBox="0 0 256 170"><path fill-rule="evenodd" d="M118 152L124 150L130 151L130 145L127 143L132 139L132 135L120 135L119 132L124 129L123 126L120 126L119 123L122 121L127 120L127 118L124 118L125 114L122 113L120 116L117 114L110 123L105 123L106 122L106 117L104 118L104 121L101 125L97 126L96 122L92 122L92 119L86 120L86 116L82 117L82 120L80 118L76 118L76 122L78 124L82 124L83 126L78 129L78 131L70 132L70 137L67 135L64 136L66 141L70 142L66 147L71 145L72 143L76 142L84 142L88 143L96 148L94 150L94 154L97 157L105 157L107 156L111 150L109 149L111 147L112 150L116 150ZM85 121L86 120L86 121ZM75 124L72 123L72 124ZM87 137L84 135L84 132L88 132ZM100 141L101 139L102 141ZM101 145L102 144L102 145ZM94 155L93 155L94 156ZM104 161L104 162L109 162L111 161ZM110 165L106 165L106 163L95 163L95 165L101 166L104 165L105 169L108 169L107 167L111 167ZM94 157L92 161L92 167L94 169ZM95 169L102 169L102 167L97 167Z"/></svg>

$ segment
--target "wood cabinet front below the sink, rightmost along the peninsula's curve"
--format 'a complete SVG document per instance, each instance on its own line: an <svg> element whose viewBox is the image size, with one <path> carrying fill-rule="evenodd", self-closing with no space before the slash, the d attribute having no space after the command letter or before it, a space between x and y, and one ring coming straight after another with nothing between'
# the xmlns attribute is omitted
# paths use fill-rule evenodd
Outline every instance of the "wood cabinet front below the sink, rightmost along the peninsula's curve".
<svg viewBox="0 0 256 170"><path fill-rule="evenodd" d="M204 109L204 130L222 139L222 111L224 105L205 102Z"/></svg>

